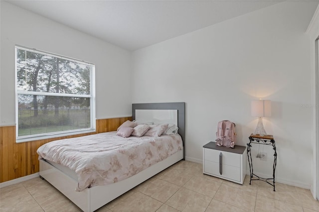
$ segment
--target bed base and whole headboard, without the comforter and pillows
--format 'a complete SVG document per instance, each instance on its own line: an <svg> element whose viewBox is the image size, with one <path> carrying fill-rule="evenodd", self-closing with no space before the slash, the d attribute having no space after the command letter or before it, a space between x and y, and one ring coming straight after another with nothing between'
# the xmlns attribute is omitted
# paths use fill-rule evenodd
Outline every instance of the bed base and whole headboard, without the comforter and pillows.
<svg viewBox="0 0 319 212"><path fill-rule="evenodd" d="M125 192L131 190L160 171L184 159L184 135L185 135L185 104L184 103L155 103L155 104L133 104L132 118L155 120L156 123L174 121L178 126L178 134L182 139L180 150L171 154L143 171L130 176L124 180L108 185L97 185L82 188L81 192L75 190L78 187L77 175L73 170L60 164L40 160L40 177L52 184L56 189L69 198L81 210L93 212ZM102 133L99 133L102 134ZM99 134L92 135L98 136ZM112 134L110 132L109 134ZM113 133L114 134L114 133ZM178 136L179 136L178 135Z"/></svg>

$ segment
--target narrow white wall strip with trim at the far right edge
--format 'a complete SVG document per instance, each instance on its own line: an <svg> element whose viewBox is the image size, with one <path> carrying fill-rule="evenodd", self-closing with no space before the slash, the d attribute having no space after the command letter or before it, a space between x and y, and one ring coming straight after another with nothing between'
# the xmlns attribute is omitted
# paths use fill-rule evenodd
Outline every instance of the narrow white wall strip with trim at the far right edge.
<svg viewBox="0 0 319 212"><path fill-rule="evenodd" d="M313 108L313 128L312 128L312 144L313 144L313 163L312 163L312 176L313 186L311 188L314 198L319 200L319 76L316 70L316 39L319 37L319 6L310 22L307 34L310 36L310 55L311 55L311 79L312 79L312 108ZM317 72L317 73L316 73ZM317 125L316 125L317 118Z"/></svg>

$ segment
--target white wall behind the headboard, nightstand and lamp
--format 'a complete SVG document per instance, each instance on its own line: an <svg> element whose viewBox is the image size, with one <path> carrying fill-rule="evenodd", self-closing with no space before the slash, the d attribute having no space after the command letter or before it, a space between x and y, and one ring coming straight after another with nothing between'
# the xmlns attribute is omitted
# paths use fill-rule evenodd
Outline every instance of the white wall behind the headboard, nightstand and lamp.
<svg viewBox="0 0 319 212"><path fill-rule="evenodd" d="M257 118L251 100L272 100L264 126L275 137L276 181L312 184L312 109L309 36L318 2L285 1L133 53L133 103L186 103L186 160L202 160L202 146L215 139L217 122L236 123L246 145ZM269 148L268 148L269 147ZM256 155L258 146L253 146ZM268 161L254 171L272 175Z"/></svg>

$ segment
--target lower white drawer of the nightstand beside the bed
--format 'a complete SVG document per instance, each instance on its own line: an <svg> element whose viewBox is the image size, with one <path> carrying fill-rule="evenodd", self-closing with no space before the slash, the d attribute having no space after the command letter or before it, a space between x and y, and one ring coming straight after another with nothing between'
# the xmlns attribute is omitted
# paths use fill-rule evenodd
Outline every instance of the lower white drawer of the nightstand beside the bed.
<svg viewBox="0 0 319 212"><path fill-rule="evenodd" d="M229 166L229 165L222 165L222 174L219 173L219 163L212 162L212 161L205 161L204 164L204 173L221 176L224 178L228 178L230 180L241 181L240 179L240 168Z"/></svg>

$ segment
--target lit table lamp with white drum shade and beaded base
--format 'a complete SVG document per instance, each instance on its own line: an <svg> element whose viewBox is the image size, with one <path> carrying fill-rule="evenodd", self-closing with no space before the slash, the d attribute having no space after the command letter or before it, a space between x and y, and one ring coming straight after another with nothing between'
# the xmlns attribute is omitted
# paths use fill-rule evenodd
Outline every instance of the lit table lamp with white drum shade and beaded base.
<svg viewBox="0 0 319 212"><path fill-rule="evenodd" d="M271 116L271 101L270 100L254 100L251 101L251 115L258 117L258 124L254 135L259 136L267 135L264 129L263 117Z"/></svg>

